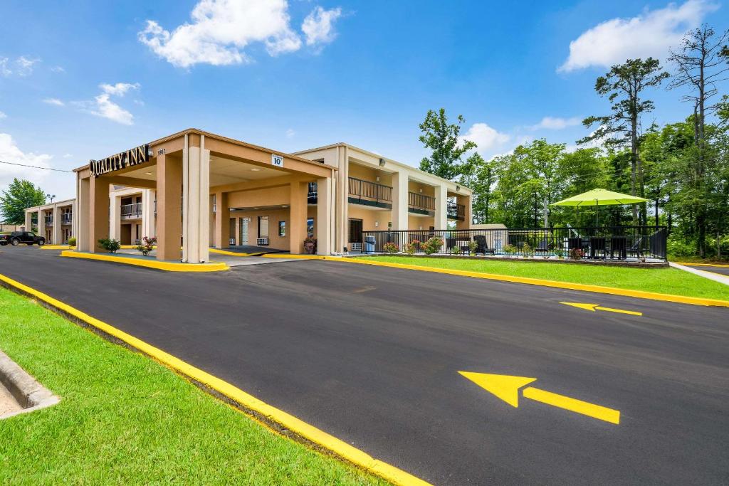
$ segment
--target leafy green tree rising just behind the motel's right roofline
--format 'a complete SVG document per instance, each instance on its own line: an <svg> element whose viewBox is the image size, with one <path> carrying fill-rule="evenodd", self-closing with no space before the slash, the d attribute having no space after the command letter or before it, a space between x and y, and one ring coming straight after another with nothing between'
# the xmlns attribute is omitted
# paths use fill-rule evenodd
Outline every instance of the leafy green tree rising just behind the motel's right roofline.
<svg viewBox="0 0 729 486"><path fill-rule="evenodd" d="M432 150L432 154L421 160L421 171L449 181L455 181L469 172L469 162L464 162L462 157L469 150L475 149L476 144L460 139L461 125L465 122L463 115L459 115L458 122L450 125L444 108L437 113L428 110L424 122L420 124L423 132L420 141L426 149Z"/></svg>

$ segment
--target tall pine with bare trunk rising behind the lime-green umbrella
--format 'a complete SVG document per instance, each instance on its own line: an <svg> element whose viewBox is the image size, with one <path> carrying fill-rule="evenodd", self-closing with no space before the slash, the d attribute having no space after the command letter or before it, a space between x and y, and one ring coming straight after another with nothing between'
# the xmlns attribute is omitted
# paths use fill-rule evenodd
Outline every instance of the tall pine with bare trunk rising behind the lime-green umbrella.
<svg viewBox="0 0 729 486"><path fill-rule="evenodd" d="M597 130L582 138L578 143L604 140L609 147L630 146L631 149L631 195L636 195L636 186L644 196L643 172L639 156L639 137L641 115L653 110L650 100L642 99L642 93L649 87L660 85L668 77L662 71L657 59L628 59L625 64L612 66L610 71L595 82L595 90L608 97L612 103L612 114L601 117L587 117L582 120L585 127L599 125ZM645 207L642 222L645 224ZM638 224L638 210L633 206L633 224Z"/></svg>

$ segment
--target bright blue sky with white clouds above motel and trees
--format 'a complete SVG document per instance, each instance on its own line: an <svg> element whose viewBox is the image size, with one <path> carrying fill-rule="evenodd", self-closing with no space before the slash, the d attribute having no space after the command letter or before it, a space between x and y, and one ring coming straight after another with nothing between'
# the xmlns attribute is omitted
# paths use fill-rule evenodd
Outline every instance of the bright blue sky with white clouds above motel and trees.
<svg viewBox="0 0 729 486"><path fill-rule="evenodd" d="M70 169L195 127L294 152L346 141L418 165L428 109L463 114L485 157L573 145L612 63L665 59L718 1L126 1L0 7L0 160ZM666 65L666 68L670 66ZM670 70L670 69L669 69ZM729 91L729 85L720 87ZM644 125L682 119L650 94ZM73 176L0 165L57 197Z"/></svg>

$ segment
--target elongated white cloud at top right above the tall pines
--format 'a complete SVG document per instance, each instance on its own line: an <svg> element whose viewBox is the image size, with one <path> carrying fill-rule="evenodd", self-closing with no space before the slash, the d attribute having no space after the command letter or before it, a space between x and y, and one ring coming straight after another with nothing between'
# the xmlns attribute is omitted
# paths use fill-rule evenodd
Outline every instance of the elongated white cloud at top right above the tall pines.
<svg viewBox="0 0 729 486"><path fill-rule="evenodd" d="M635 58L663 60L669 47L678 47L687 30L718 8L711 1L688 0L680 7L671 3L663 9L645 9L636 17L607 20L569 43L569 57L558 71L609 68Z"/></svg>

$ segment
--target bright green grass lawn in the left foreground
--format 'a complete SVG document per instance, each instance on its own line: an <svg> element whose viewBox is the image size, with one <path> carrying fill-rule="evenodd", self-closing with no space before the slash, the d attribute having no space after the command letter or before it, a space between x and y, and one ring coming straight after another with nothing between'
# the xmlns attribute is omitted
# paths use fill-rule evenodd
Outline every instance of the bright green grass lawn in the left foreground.
<svg viewBox="0 0 729 486"><path fill-rule="evenodd" d="M0 349L61 397L0 420L0 484L386 484L2 288Z"/></svg>

